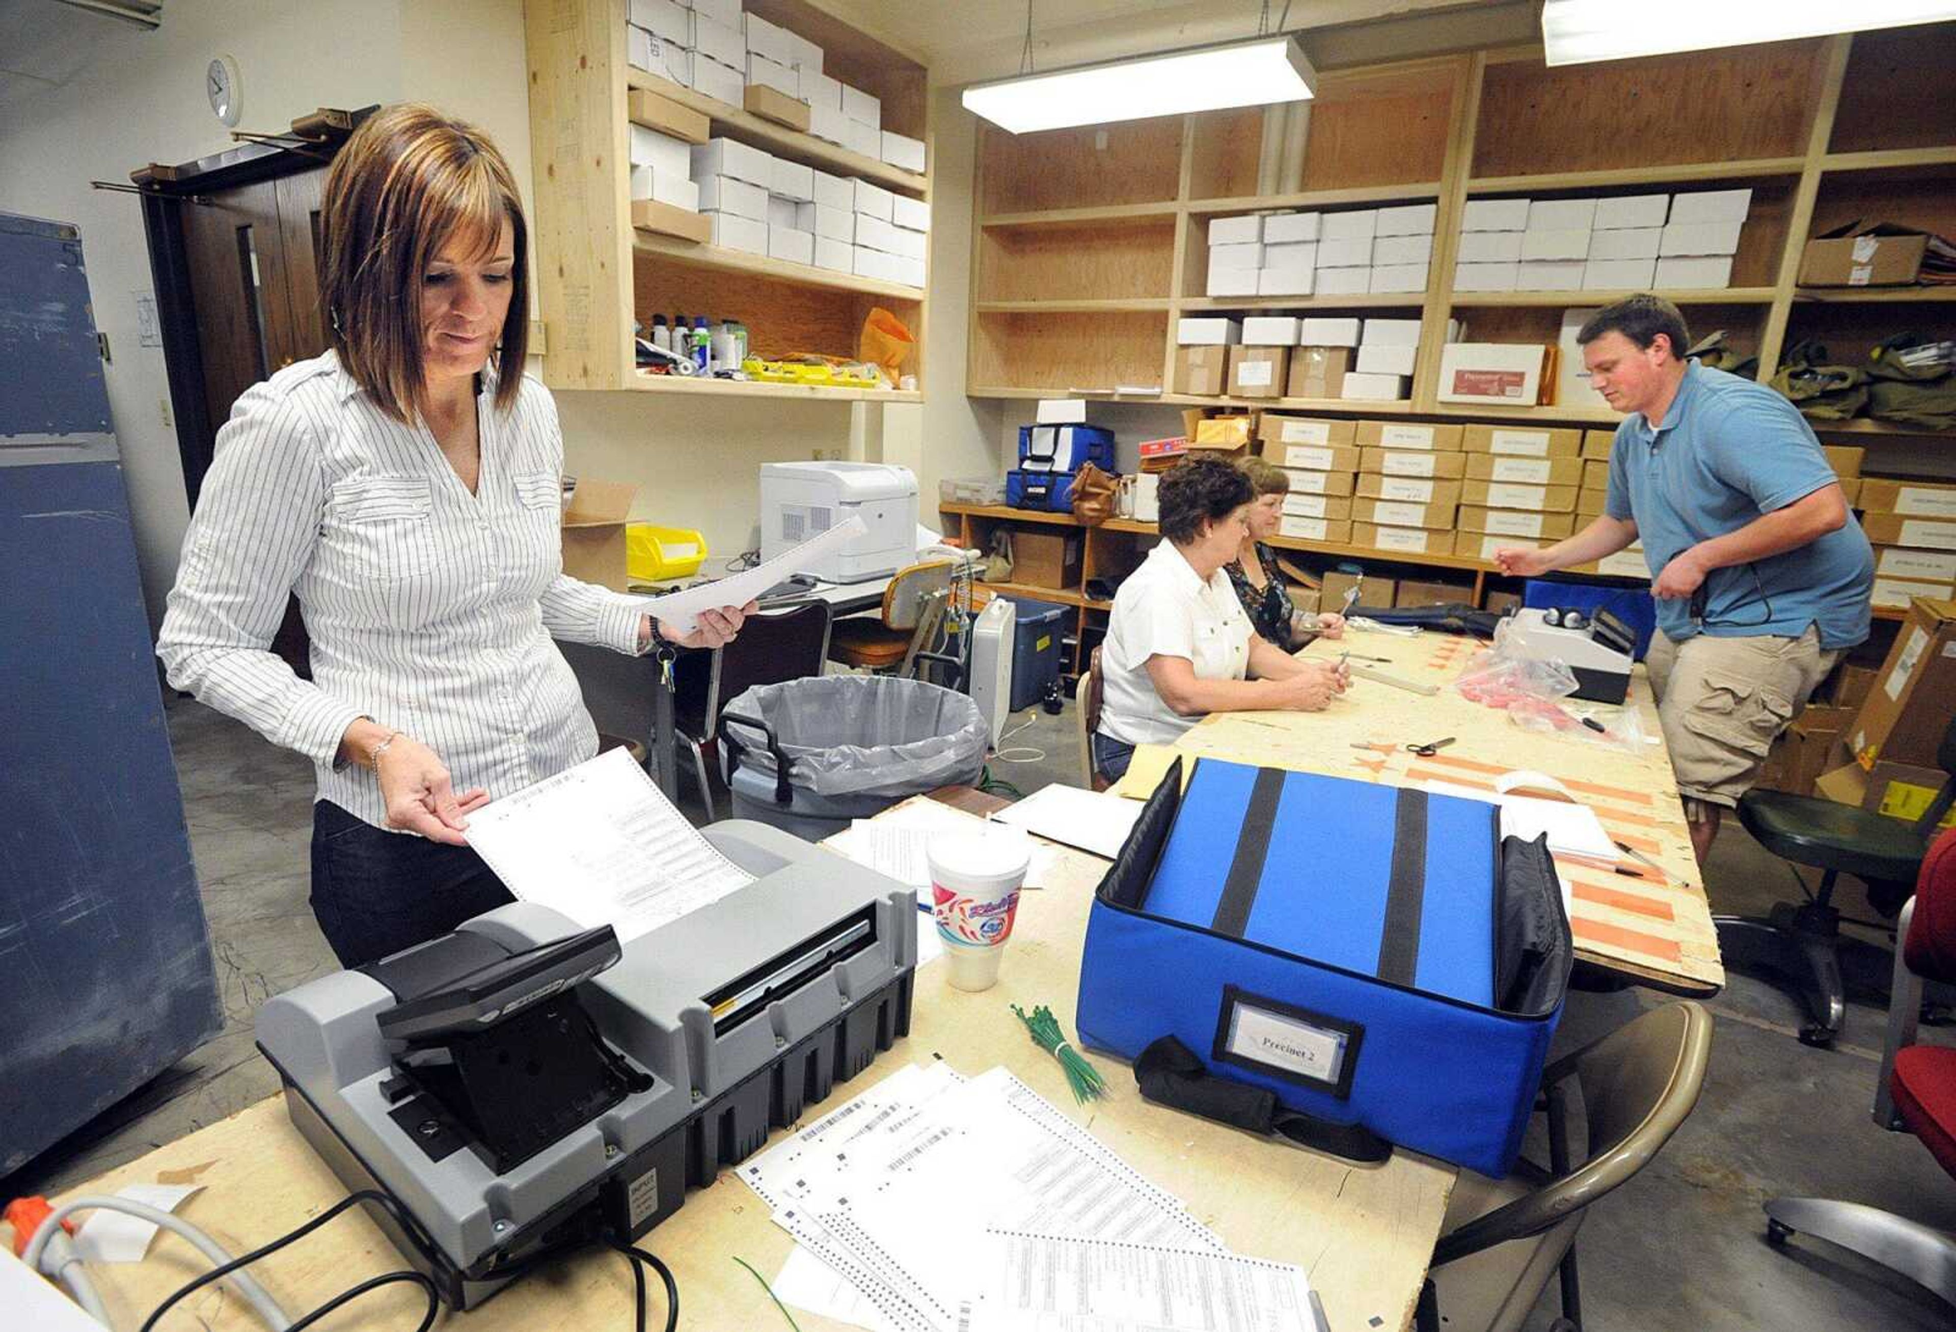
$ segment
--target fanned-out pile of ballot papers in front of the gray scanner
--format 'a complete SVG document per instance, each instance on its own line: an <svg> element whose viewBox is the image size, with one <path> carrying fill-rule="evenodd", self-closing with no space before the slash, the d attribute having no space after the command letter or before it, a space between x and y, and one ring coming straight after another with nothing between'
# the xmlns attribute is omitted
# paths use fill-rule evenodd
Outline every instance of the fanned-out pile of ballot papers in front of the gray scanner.
<svg viewBox="0 0 1956 1332"><path fill-rule="evenodd" d="M955 1332L986 1228L1170 1252L1222 1242L1003 1068L904 1070L737 1170L775 1222L904 1332Z"/></svg>

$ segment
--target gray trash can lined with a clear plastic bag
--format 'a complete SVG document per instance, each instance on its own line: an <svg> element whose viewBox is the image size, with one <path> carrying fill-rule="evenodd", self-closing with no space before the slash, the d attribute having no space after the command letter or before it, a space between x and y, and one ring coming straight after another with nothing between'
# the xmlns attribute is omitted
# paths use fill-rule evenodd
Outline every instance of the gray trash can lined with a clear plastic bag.
<svg viewBox="0 0 1956 1332"><path fill-rule="evenodd" d="M720 710L734 816L808 841L904 796L976 782L988 739L966 694L890 675L755 685Z"/></svg>

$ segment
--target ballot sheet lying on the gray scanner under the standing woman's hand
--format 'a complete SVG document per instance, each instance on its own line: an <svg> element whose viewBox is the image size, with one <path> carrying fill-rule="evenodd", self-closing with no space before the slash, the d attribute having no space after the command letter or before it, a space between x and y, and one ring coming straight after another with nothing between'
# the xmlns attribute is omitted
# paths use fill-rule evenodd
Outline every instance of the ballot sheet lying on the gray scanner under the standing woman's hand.
<svg viewBox="0 0 1956 1332"><path fill-rule="evenodd" d="M469 816L469 845L518 900L618 943L745 888L728 861L651 784L628 749L608 749Z"/></svg>

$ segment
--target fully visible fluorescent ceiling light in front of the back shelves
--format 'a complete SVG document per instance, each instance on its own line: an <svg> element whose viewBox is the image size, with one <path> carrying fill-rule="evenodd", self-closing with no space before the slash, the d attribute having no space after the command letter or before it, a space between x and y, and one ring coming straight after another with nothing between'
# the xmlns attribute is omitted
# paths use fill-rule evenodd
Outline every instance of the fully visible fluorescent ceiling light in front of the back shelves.
<svg viewBox="0 0 1956 1332"><path fill-rule="evenodd" d="M1023 135L1226 106L1303 102L1314 82L1316 70L1295 37L1262 37L978 84L964 90L964 110Z"/></svg>

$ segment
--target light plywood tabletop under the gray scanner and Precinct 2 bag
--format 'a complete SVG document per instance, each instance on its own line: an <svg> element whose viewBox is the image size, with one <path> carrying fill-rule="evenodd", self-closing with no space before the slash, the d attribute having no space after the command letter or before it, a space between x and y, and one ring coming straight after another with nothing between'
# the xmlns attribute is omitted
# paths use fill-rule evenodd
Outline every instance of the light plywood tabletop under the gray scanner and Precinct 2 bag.
<svg viewBox="0 0 1956 1332"><path fill-rule="evenodd" d="M972 808L970 802L962 802ZM1453 1168L1395 1152L1381 1166L1352 1166L1277 1140L1254 1138L1207 1121L1148 1105L1133 1076L1115 1060L1095 1058L1113 1097L1076 1109L1058 1064L1033 1046L1011 1003L1052 1005L1074 1031L1080 947L1088 904L1105 861L1060 849L1041 890L1021 898L1019 919L1000 984L984 994L951 990L943 966L917 972L911 1031L855 1082L837 1084L806 1119L827 1113L904 1064L945 1058L962 1074L1003 1064L1041 1095L1091 1129L1131 1166L1187 1203L1236 1252L1303 1265L1324 1299L1334 1328L1404 1328L1440 1236L1453 1187ZM280 1099L211 1125L74 1189L110 1193L135 1181L196 1181L180 1215L203 1226L233 1254L243 1254L317 1217L344 1187L299 1138ZM70 1195L72 1197L72 1195ZM659 1254L679 1279L681 1326L702 1332L786 1328L761 1285L734 1258L773 1279L792 1240L767 1207L737 1179L722 1177L689 1195L685 1207L651 1230L644 1248ZM346 1287L401 1267L379 1230L352 1211L295 1246L254 1265L288 1314L299 1316ZM160 1234L147 1262L96 1267L117 1328L135 1328L172 1289L207 1269L172 1234ZM655 1287L655 1283L653 1283ZM407 1330L421 1316L422 1295L395 1285L364 1297L331 1326ZM653 1322L663 1307L653 1297ZM843 1328L796 1310L802 1328ZM254 1314L227 1289L205 1287L170 1314L164 1328L205 1332L258 1328ZM438 1326L469 1332L503 1328L630 1328L632 1273L616 1254L591 1252L532 1273L479 1310L444 1314Z"/></svg>

